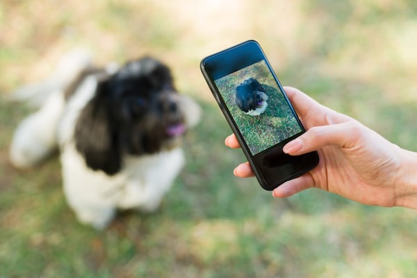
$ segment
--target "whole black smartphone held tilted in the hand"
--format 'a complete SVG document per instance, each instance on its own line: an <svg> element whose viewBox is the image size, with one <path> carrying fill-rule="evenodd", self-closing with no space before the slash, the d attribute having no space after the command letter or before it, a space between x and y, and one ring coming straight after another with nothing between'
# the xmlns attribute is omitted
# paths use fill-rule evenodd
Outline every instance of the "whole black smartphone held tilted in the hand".
<svg viewBox="0 0 417 278"><path fill-rule="evenodd" d="M208 56L200 67L262 188L273 190L318 165L317 152L282 151L305 129L258 42Z"/></svg>

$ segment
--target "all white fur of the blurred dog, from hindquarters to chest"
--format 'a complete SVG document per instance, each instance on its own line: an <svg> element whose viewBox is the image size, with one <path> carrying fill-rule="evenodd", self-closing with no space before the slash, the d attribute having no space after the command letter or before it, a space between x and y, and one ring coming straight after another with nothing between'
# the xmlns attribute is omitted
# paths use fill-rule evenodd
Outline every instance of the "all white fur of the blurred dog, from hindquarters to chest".
<svg viewBox="0 0 417 278"><path fill-rule="evenodd" d="M113 176L87 167L76 151L73 133L81 108L93 97L96 86L95 78L86 79L67 103L63 90L52 93L40 110L17 128L10 161L16 167L32 167L59 147L68 204L81 222L103 229L117 208L155 211L185 159L177 147L153 155L125 156L124 167ZM186 113L188 125L196 124L197 104L183 97L183 105L194 111Z"/></svg>

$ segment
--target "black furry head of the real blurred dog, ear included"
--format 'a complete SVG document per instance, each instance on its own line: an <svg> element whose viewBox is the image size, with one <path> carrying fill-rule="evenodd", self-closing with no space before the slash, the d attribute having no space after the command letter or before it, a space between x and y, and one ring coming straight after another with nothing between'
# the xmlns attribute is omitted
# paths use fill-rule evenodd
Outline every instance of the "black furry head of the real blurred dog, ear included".
<svg viewBox="0 0 417 278"><path fill-rule="evenodd" d="M166 65L153 58L133 60L97 85L76 124L76 148L88 167L115 174L124 154L177 147L190 125L188 106Z"/></svg>

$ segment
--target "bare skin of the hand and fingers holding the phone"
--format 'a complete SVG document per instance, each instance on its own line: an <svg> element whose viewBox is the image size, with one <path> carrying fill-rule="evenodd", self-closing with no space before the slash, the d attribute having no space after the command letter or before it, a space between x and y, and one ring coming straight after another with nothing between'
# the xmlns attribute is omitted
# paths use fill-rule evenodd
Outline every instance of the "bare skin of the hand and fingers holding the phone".
<svg viewBox="0 0 417 278"><path fill-rule="evenodd" d="M272 191L289 197L320 188L361 204L417 208L417 153L401 149L357 120L318 104L300 90L284 87L306 133L288 142L292 156L317 151L319 165ZM234 134L225 144L239 148ZM249 163L234 169L236 177L253 177Z"/></svg>

